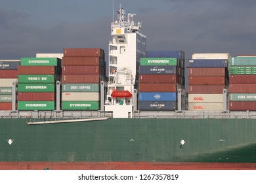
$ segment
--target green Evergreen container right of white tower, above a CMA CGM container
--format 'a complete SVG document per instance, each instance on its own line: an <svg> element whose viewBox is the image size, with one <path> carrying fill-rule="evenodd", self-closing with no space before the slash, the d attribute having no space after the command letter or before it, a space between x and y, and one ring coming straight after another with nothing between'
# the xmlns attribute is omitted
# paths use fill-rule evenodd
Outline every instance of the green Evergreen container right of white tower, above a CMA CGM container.
<svg viewBox="0 0 256 183"><path fill-rule="evenodd" d="M140 58L140 65L179 65L177 58Z"/></svg>

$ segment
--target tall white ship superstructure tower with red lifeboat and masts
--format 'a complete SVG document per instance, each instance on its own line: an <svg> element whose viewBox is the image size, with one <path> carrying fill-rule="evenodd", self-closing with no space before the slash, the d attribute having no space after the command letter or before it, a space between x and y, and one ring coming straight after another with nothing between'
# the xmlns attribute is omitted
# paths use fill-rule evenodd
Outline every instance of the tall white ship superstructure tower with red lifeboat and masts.
<svg viewBox="0 0 256 183"><path fill-rule="evenodd" d="M125 20L125 10L120 5L117 15L118 20L111 24L105 111L113 112L113 118L129 118L133 114L139 61L146 57L146 36L140 33L141 23L133 21L135 14L127 12Z"/></svg>

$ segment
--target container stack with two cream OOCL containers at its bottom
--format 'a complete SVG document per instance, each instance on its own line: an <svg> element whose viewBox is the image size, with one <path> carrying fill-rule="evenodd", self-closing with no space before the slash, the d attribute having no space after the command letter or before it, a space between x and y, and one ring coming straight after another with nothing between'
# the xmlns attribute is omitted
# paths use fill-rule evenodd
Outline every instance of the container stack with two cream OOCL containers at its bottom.
<svg viewBox="0 0 256 183"><path fill-rule="evenodd" d="M193 54L188 60L188 110L224 110L229 54Z"/></svg>

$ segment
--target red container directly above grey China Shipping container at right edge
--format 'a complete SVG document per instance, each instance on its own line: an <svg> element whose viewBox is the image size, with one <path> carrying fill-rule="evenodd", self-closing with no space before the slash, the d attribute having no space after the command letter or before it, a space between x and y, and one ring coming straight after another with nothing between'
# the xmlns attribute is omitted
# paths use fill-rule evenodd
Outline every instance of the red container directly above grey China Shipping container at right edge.
<svg viewBox="0 0 256 183"><path fill-rule="evenodd" d="M256 93L256 84L230 84L229 93Z"/></svg>

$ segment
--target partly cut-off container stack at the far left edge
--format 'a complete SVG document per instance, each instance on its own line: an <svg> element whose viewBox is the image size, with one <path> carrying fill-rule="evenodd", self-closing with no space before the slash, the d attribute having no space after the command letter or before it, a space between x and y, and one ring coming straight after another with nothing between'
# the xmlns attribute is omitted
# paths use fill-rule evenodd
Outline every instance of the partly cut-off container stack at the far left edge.
<svg viewBox="0 0 256 183"><path fill-rule="evenodd" d="M20 60L0 60L0 110L12 110L12 82L17 82Z"/></svg>

